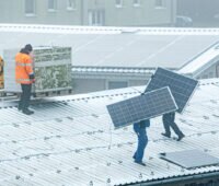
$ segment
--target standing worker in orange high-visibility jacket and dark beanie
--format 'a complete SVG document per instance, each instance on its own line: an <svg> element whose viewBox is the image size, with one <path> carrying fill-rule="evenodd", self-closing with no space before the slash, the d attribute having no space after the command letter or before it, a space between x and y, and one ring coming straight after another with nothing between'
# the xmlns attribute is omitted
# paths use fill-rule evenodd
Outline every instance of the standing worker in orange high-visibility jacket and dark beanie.
<svg viewBox="0 0 219 186"><path fill-rule="evenodd" d="M21 84L22 89L18 109L22 111L26 115L34 114L33 111L28 109L32 83L35 82L33 61L30 56L32 50L32 45L27 44L15 56L15 80Z"/></svg>

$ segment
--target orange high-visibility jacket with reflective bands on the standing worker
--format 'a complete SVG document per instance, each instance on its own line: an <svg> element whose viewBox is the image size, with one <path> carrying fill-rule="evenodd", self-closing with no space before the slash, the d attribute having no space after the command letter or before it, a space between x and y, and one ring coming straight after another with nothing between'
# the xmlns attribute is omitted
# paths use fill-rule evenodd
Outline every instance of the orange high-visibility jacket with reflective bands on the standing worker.
<svg viewBox="0 0 219 186"><path fill-rule="evenodd" d="M30 74L33 74L32 58L23 53L18 53L15 56L15 79L18 83L31 84L33 80Z"/></svg>

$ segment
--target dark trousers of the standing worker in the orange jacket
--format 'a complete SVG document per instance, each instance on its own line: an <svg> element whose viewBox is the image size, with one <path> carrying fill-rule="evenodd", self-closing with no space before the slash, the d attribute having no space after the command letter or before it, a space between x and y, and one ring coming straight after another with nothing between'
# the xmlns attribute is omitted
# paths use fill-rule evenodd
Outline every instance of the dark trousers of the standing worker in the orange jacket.
<svg viewBox="0 0 219 186"><path fill-rule="evenodd" d="M31 100L32 84L21 84L22 93L19 102L19 109L25 111L28 108Z"/></svg>

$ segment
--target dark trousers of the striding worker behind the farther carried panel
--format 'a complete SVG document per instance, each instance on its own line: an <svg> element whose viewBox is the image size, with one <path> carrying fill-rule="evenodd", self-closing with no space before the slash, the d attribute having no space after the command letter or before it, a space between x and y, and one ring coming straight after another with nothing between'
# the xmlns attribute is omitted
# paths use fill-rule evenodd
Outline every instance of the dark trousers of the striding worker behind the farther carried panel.
<svg viewBox="0 0 219 186"><path fill-rule="evenodd" d="M174 120L175 120L175 113L169 113L163 115L163 126L165 129L165 133L170 136L172 128L177 136L183 135L183 132L180 130L178 126L175 124Z"/></svg>

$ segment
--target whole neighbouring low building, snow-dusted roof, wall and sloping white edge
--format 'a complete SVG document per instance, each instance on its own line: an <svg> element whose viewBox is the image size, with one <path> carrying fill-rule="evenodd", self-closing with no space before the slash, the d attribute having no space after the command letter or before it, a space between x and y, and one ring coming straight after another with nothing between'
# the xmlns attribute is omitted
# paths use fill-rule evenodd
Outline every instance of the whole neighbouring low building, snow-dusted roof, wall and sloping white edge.
<svg viewBox="0 0 219 186"><path fill-rule="evenodd" d="M26 43L71 47L74 93L142 85L157 67L219 77L219 28L0 24L0 55Z"/></svg>

